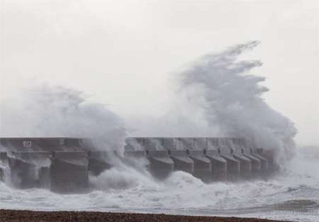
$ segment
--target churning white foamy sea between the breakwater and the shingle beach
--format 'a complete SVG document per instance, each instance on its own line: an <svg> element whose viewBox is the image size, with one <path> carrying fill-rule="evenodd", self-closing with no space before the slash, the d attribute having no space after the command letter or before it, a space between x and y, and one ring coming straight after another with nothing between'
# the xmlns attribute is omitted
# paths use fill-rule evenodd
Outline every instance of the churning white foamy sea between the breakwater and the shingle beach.
<svg viewBox="0 0 319 222"><path fill-rule="evenodd" d="M92 190L61 195L0 184L0 208L29 210L155 212L319 220L319 159L300 153L267 181L205 184L186 172L164 181L117 167L91 177ZM307 169L307 170L306 170Z"/></svg>

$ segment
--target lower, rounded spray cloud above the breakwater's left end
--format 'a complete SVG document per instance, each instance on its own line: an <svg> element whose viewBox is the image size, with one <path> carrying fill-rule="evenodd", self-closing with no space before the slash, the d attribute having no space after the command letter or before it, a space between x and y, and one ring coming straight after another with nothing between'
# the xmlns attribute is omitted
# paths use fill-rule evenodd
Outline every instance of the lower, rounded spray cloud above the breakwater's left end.
<svg viewBox="0 0 319 222"><path fill-rule="evenodd" d="M90 138L96 149L123 153L122 120L82 92L48 85L17 90L1 101L0 136Z"/></svg>

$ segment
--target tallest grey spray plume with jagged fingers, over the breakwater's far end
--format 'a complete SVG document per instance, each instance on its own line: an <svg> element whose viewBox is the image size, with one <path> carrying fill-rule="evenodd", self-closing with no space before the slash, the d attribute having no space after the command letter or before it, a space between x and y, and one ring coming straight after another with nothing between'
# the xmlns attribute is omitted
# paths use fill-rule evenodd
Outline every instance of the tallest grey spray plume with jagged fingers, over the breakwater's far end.
<svg viewBox="0 0 319 222"><path fill-rule="evenodd" d="M261 62L238 61L258 43L248 42L201 57L181 73L180 93L204 113L212 128L219 128L224 136L243 137L257 147L276 150L282 161L294 152L294 124L261 97L268 91L259 84L265 78L249 74Z"/></svg>

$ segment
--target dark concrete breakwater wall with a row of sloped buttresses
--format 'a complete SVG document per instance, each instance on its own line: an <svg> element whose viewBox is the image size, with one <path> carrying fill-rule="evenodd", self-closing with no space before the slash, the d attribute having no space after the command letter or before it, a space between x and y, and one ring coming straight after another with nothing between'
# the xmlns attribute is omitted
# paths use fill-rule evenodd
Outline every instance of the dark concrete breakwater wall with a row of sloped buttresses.
<svg viewBox="0 0 319 222"><path fill-rule="evenodd" d="M89 175L116 165L143 163L159 180L185 171L210 183L268 177L278 166L271 150L243 138L130 137L123 155L99 150L83 138L0 138L0 180L16 188L81 192Z"/></svg>

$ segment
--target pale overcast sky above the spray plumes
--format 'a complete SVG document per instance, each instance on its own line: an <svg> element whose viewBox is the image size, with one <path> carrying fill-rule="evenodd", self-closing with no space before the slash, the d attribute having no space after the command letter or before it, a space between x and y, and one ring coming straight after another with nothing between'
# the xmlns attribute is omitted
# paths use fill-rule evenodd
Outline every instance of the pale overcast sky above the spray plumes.
<svg viewBox="0 0 319 222"><path fill-rule="evenodd" d="M319 144L318 0L1 1L2 96L47 81L85 91L124 119L160 116L172 76L198 56L259 40L247 57L292 119Z"/></svg>

